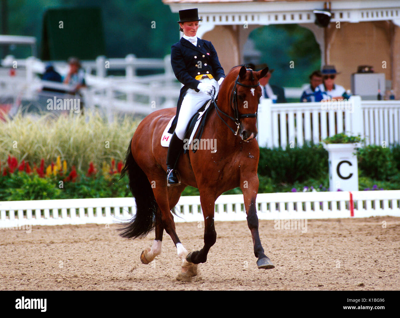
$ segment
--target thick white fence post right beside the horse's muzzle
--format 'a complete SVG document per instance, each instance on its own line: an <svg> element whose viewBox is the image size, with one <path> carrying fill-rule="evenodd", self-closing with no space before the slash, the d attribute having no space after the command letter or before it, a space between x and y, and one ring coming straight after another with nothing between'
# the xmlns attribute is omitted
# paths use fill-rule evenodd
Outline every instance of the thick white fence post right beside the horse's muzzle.
<svg viewBox="0 0 400 318"><path fill-rule="evenodd" d="M257 141L259 147L273 147L272 145L272 99L261 99L257 114Z"/></svg>

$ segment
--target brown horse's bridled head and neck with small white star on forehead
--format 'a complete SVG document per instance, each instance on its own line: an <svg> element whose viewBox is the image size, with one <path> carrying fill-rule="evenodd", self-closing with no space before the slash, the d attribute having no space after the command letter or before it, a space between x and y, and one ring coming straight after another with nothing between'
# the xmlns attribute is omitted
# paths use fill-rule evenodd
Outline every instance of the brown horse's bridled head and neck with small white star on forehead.
<svg viewBox="0 0 400 318"><path fill-rule="evenodd" d="M235 66L222 82L218 93L219 106L224 107L223 111L228 114L233 114L235 130L245 141L257 135L257 111L262 94L259 79L267 73L268 67L255 72L245 66Z"/></svg>

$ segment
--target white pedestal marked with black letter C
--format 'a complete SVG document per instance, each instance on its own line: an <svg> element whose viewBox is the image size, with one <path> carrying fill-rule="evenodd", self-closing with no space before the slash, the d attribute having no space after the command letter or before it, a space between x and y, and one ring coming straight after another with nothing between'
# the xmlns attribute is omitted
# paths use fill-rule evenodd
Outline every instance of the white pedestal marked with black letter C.
<svg viewBox="0 0 400 318"><path fill-rule="evenodd" d="M359 143L323 144L329 153L329 190L358 191L356 148Z"/></svg>

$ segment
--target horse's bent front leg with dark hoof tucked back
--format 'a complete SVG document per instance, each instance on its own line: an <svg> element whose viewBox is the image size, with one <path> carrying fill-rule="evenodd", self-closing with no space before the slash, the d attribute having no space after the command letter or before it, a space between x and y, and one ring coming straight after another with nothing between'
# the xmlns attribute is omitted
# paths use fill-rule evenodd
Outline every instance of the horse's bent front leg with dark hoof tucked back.
<svg viewBox="0 0 400 318"><path fill-rule="evenodd" d="M208 251L217 240L217 233L214 227L215 199L210 192L212 191L200 191L200 203L204 216L204 247L201 250L190 252L186 256L186 260L194 264L207 261Z"/></svg>

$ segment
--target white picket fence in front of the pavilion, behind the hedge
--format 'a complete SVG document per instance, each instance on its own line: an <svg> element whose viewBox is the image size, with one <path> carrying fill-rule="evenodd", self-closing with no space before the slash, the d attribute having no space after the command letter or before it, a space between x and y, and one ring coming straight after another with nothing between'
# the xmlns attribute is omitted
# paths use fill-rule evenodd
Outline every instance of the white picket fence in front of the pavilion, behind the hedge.
<svg viewBox="0 0 400 318"><path fill-rule="evenodd" d="M360 134L366 144L400 143L400 101L362 101L352 96L338 103L272 103L258 107L258 144L268 147L319 143L336 133Z"/></svg>

